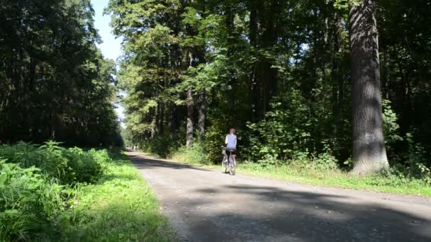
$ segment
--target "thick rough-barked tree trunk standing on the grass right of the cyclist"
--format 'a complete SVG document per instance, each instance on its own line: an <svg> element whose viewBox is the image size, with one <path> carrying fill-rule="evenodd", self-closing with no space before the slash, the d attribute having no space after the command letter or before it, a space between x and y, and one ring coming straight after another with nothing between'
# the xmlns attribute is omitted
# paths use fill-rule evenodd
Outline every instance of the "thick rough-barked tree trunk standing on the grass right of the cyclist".
<svg viewBox="0 0 431 242"><path fill-rule="evenodd" d="M374 0L350 8L352 52L352 173L388 167L382 130L379 41Z"/></svg>

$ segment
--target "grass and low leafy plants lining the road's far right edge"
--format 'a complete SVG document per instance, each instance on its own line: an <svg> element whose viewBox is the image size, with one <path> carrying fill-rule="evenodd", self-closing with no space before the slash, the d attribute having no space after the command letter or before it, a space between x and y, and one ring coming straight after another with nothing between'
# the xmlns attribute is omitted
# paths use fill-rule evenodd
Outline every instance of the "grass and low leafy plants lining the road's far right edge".
<svg viewBox="0 0 431 242"><path fill-rule="evenodd" d="M194 166L220 168L221 156L218 164L206 159L207 156L201 147L194 146L193 149L179 149L170 159ZM410 167L414 169L396 166L388 171L362 177L348 173L348 168L339 168L335 158L329 154L312 158L307 154L297 154L295 159L288 161L262 159L259 162L251 162L240 159L237 172L308 185L431 197L429 170L416 160L420 159L418 156L411 156L410 159ZM352 166L349 162L346 161L345 166Z"/></svg>

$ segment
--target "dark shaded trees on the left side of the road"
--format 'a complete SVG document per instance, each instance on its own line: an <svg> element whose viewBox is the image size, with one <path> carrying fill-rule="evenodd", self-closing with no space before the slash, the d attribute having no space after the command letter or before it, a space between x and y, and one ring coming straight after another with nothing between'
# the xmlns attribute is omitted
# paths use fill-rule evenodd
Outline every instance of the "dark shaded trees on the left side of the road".
<svg viewBox="0 0 431 242"><path fill-rule="evenodd" d="M93 17L89 0L1 1L1 142L121 144Z"/></svg>

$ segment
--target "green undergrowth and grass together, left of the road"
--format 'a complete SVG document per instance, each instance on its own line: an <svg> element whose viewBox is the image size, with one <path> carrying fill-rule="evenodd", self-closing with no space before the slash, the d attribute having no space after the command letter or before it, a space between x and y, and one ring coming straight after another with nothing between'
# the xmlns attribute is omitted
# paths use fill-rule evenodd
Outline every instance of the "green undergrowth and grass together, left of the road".
<svg viewBox="0 0 431 242"><path fill-rule="evenodd" d="M122 154L55 142L0 146L0 241L172 241Z"/></svg>

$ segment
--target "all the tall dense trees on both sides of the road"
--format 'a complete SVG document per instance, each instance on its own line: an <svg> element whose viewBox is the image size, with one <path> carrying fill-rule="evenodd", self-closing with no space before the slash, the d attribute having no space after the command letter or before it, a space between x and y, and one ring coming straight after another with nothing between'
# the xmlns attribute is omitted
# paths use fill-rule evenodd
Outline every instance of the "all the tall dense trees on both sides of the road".
<svg viewBox="0 0 431 242"><path fill-rule="evenodd" d="M426 0L111 0L116 74L89 0L5 0L0 139L121 144L118 85L128 144L161 156L186 146L218 161L235 127L240 159L262 166L430 173L430 11Z"/></svg>

